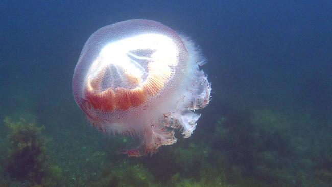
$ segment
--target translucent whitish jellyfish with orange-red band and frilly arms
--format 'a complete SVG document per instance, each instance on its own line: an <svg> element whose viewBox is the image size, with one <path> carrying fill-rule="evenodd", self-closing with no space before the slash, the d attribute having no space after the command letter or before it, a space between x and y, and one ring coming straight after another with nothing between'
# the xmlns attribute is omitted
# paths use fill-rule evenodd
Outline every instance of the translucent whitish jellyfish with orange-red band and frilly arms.
<svg viewBox="0 0 332 187"><path fill-rule="evenodd" d="M128 156L156 153L192 135L210 101L205 63L187 37L159 22L133 19L98 29L75 67L75 101L98 130L139 139Z"/></svg>

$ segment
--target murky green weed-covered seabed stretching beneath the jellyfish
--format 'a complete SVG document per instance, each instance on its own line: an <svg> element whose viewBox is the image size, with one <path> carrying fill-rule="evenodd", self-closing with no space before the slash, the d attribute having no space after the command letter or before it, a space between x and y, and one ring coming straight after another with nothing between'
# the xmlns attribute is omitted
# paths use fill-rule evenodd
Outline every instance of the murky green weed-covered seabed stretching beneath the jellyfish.
<svg viewBox="0 0 332 187"><path fill-rule="evenodd" d="M56 109L57 107L55 107ZM118 150L130 138L99 133L65 110L5 116L1 186L331 186L328 125L271 109L231 111L152 157ZM79 113L79 111L77 112ZM81 118L82 117L82 118ZM28 119L28 120L27 120ZM41 125L42 122L48 122ZM202 123L202 122L201 122ZM324 127L326 127L324 129ZM49 128L49 129L48 129Z"/></svg>

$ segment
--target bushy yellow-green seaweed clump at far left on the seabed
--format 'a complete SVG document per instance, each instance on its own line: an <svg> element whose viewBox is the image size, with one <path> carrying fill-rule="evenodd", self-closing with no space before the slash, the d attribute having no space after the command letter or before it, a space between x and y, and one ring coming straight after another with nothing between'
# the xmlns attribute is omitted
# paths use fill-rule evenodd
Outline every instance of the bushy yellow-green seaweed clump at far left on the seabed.
<svg viewBox="0 0 332 187"><path fill-rule="evenodd" d="M4 119L4 123L9 129L8 152L5 158L5 170L9 180L29 186L57 185L57 181L62 177L62 170L52 165L47 154L48 138L42 135L45 127L38 127L24 119L13 122L9 117Z"/></svg>

